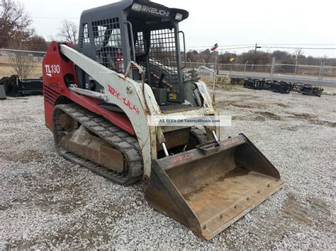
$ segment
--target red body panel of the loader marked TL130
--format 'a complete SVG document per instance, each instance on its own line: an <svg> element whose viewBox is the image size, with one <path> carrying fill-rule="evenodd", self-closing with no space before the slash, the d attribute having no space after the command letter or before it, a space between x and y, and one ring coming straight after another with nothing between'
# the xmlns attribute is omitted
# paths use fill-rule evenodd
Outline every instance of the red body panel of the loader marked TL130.
<svg viewBox="0 0 336 251"><path fill-rule="evenodd" d="M67 44L67 46L70 46ZM43 95L45 105L45 124L52 130L52 112L55 105L65 103L65 100L71 100L78 105L101 115L120 127L125 132L135 135L130 119L121 112L108 111L99 105L103 103L96 98L90 98L69 91L65 84L65 75L72 74L74 83L77 83L74 63L61 56L57 42L51 42L47 54L43 59ZM62 98L63 97L63 98Z"/></svg>

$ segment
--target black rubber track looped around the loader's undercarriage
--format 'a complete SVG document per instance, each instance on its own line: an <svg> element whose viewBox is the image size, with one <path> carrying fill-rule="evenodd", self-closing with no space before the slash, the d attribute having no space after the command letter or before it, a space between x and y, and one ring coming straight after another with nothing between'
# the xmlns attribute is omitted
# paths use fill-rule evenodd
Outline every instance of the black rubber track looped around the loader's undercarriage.
<svg viewBox="0 0 336 251"><path fill-rule="evenodd" d="M127 160L128 170L123 173L118 173L114 170L104 168L91 160L79 157L74 153L62 150L59 143L64 135L64 131L58 121L58 117L63 113L66 113L86 127L86 129L89 129L89 131L108 142L108 144L111 144L111 146L118 149L118 151L121 151ZM143 164L140 146L138 140L133 136L123 132L122 129L114 126L106 119L99 117L99 115L75 104L55 106L53 119L55 146L61 156L121 185L131 185L142 179Z"/></svg>

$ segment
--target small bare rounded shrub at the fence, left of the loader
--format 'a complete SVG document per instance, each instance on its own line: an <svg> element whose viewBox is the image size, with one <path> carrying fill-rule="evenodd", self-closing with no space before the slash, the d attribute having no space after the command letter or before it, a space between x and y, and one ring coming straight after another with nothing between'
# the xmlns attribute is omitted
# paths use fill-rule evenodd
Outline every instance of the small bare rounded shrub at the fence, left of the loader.
<svg viewBox="0 0 336 251"><path fill-rule="evenodd" d="M33 55L23 50L13 51L9 55L9 63L20 78L27 78L36 68Z"/></svg>

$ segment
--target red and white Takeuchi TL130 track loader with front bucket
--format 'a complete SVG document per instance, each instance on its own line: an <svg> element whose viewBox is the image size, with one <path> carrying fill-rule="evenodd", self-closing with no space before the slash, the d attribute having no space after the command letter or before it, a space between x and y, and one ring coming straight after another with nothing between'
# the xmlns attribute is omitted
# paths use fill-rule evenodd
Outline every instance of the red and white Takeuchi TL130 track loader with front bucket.
<svg viewBox="0 0 336 251"><path fill-rule="evenodd" d="M150 206L210 239L284 182L244 134L148 126L150 116L217 114L206 83L184 69L188 16L144 0L84 11L77 49L51 42L43 59L45 122L61 156L121 185L145 180Z"/></svg>

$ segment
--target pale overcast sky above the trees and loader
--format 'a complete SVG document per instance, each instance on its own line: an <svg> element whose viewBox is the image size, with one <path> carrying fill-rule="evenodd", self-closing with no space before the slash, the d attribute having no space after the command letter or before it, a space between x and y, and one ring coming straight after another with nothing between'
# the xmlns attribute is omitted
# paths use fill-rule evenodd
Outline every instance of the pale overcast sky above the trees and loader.
<svg viewBox="0 0 336 251"><path fill-rule="evenodd" d="M33 18L33 27L47 40L57 38L62 19L79 23L85 9L111 4L115 0L21 0ZM187 49L206 49L215 43L220 49L254 46L301 47L306 56L336 58L335 0L156 0L170 8L184 8L189 18L180 23L186 33ZM281 44L281 45L280 45ZM317 45L319 44L319 45ZM327 45L328 44L328 45ZM262 48L271 52L272 48ZM295 49L281 49L294 52Z"/></svg>

